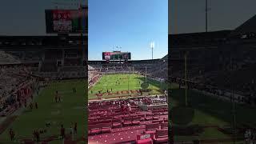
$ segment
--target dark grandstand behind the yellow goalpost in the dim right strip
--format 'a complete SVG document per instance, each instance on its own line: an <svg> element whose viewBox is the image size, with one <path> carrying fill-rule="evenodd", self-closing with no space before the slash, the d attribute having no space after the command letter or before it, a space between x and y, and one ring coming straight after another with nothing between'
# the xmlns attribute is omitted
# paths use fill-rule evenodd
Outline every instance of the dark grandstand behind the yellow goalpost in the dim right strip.
<svg viewBox="0 0 256 144"><path fill-rule="evenodd" d="M236 102L255 105L256 41L254 31L246 27L248 22L235 30L170 34L171 81L185 85L186 54L189 88L206 90L227 100L235 90Z"/></svg>

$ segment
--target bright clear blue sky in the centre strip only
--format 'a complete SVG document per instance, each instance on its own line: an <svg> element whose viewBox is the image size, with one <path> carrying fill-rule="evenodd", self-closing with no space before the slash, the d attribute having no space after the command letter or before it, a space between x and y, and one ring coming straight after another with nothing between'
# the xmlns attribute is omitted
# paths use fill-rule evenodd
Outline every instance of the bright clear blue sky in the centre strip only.
<svg viewBox="0 0 256 144"><path fill-rule="evenodd" d="M132 59L150 59L168 53L167 0L89 0L89 60L102 59L102 51L131 52Z"/></svg>

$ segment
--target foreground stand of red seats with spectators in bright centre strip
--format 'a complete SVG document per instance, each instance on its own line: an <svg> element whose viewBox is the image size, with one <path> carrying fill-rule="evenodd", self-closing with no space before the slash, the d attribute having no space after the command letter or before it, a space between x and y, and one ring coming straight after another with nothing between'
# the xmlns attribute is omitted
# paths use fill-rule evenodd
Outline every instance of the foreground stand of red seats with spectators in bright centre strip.
<svg viewBox="0 0 256 144"><path fill-rule="evenodd" d="M167 105L149 110L141 108L159 104L150 97L89 102L89 142L167 143ZM144 137L145 134L150 134L150 138Z"/></svg>

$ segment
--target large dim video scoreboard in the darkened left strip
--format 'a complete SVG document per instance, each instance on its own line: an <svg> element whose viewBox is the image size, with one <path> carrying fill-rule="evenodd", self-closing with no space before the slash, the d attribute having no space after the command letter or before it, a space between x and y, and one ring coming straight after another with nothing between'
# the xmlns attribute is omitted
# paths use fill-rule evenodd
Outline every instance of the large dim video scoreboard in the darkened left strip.
<svg viewBox="0 0 256 144"><path fill-rule="evenodd" d="M46 10L46 33L86 33L87 10Z"/></svg>

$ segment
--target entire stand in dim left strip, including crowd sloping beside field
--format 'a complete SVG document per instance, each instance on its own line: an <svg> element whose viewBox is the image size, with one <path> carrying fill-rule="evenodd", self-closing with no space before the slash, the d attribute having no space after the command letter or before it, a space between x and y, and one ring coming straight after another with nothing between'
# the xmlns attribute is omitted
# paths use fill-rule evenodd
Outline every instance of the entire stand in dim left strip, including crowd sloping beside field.
<svg viewBox="0 0 256 144"><path fill-rule="evenodd" d="M0 36L0 115L26 105L48 78L86 78L86 52L77 39L81 37Z"/></svg>

